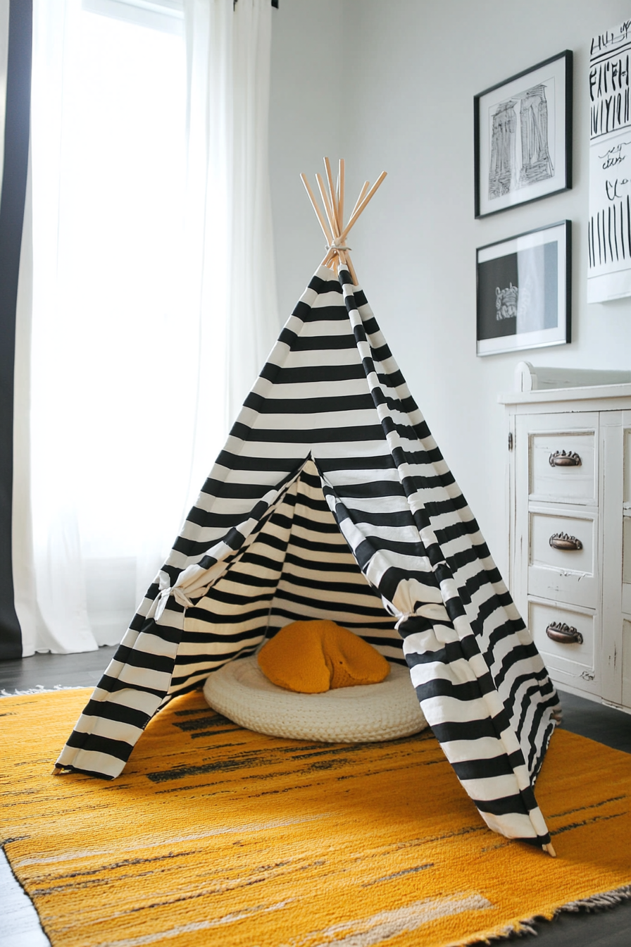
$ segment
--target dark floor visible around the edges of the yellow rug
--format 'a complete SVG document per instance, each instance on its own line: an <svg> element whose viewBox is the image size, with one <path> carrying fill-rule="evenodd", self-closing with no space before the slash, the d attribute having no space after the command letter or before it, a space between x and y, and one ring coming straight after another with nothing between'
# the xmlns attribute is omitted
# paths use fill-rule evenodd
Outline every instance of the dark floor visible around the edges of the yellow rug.
<svg viewBox="0 0 631 947"><path fill-rule="evenodd" d="M84 654L34 654L21 661L0 661L0 690L9 693L29 688L90 687L114 655L115 648L99 648ZM631 753L631 715L612 707L562 693L564 726L590 740ZM630 761L631 762L631 761ZM631 839L629 839L631 866ZM631 871L630 871L631 874ZM510 884L510 879L506 880ZM552 923L536 924L537 937L526 935L519 942L533 947L631 947L631 901L607 911L562 914ZM510 938L511 940L517 938Z"/></svg>

